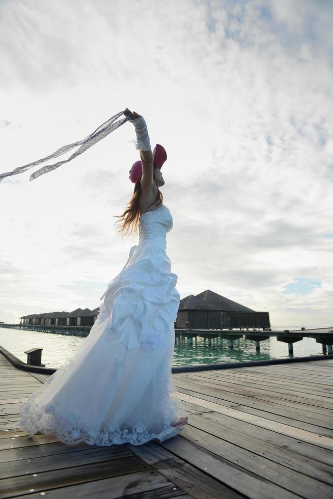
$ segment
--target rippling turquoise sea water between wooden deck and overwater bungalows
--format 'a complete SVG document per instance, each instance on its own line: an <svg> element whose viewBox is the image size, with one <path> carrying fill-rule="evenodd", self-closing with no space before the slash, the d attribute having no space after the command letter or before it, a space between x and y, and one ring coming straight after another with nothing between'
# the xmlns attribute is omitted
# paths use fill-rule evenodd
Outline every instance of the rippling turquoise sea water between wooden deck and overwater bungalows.
<svg viewBox="0 0 333 499"><path fill-rule="evenodd" d="M283 330L283 328L282 328ZM226 332L226 331L225 331ZM250 332L250 331L249 331ZM0 345L13 353L21 361L26 362L24 350L43 348L42 363L46 367L58 368L71 357L85 338L56 335L51 332L23 331L0 327ZM322 345L314 338L304 338L294 343L294 357L322 355ZM188 345L184 338L176 336L173 366L188 366L193 364L218 364L224 362L243 362L273 358L288 358L288 344L269 338L260 342L260 353L256 352L254 341L240 338L234 340L231 349L228 340L218 338L208 340L193 338L193 344Z"/></svg>

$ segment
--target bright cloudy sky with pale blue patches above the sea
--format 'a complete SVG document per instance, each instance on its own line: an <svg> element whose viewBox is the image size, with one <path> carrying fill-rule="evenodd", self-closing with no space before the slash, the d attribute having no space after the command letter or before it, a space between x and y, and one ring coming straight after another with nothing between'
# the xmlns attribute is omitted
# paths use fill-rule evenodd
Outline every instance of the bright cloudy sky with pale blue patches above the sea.
<svg viewBox="0 0 333 499"><path fill-rule="evenodd" d="M168 154L180 297L333 326L332 20L329 0L0 0L0 171L129 107ZM0 183L0 321L99 306L138 241L115 226L133 140Z"/></svg>

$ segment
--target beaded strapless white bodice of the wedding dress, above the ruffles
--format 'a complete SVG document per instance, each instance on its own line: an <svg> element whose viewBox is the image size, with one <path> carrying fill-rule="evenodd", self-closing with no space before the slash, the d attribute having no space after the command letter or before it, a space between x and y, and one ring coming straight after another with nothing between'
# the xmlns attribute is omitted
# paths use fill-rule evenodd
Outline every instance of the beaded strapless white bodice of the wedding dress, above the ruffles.
<svg viewBox="0 0 333 499"><path fill-rule="evenodd" d="M139 217L139 244L151 241L161 247L166 247L166 233L173 228L173 218L168 206L143 213Z"/></svg>

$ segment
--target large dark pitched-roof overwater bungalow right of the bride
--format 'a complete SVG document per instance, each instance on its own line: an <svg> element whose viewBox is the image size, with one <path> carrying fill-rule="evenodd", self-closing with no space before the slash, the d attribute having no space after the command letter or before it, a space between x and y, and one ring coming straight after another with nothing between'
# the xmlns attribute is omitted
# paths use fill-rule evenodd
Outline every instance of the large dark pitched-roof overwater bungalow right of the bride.
<svg viewBox="0 0 333 499"><path fill-rule="evenodd" d="M270 327L269 313L256 312L209 289L180 300L176 328Z"/></svg>

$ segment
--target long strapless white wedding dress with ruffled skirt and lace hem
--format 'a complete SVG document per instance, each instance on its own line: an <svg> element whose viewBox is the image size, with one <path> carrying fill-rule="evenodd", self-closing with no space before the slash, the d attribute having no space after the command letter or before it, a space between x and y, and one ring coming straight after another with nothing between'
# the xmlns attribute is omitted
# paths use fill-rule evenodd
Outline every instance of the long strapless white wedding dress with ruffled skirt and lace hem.
<svg viewBox="0 0 333 499"><path fill-rule="evenodd" d="M186 416L172 396L180 295L165 253L166 205L139 218L139 242L101 297L100 313L75 354L20 405L20 426L68 444L163 441Z"/></svg>

